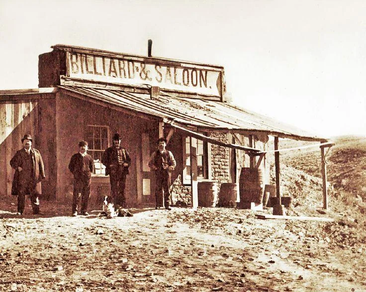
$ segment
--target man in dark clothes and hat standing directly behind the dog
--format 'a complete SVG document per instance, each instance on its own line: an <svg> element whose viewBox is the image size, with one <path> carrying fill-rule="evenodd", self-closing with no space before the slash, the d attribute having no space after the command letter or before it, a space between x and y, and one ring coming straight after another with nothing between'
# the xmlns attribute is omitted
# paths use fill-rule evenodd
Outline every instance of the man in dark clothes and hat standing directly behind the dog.
<svg viewBox="0 0 366 292"><path fill-rule="evenodd" d="M105 175L109 175L111 197L107 197L107 203L114 203L126 208L126 198L124 189L126 186L126 176L129 174L128 168L131 165L131 158L128 151L121 146L121 136L113 135L113 146L104 151L101 163L105 165Z"/></svg>

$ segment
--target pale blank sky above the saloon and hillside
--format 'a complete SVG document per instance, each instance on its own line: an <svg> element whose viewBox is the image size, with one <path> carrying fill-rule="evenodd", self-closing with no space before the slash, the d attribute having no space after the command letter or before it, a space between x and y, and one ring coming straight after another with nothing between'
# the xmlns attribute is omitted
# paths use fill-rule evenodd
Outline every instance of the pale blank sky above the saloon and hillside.
<svg viewBox="0 0 366 292"><path fill-rule="evenodd" d="M225 67L234 103L322 137L366 135L365 0L0 0L0 89L68 44Z"/></svg>

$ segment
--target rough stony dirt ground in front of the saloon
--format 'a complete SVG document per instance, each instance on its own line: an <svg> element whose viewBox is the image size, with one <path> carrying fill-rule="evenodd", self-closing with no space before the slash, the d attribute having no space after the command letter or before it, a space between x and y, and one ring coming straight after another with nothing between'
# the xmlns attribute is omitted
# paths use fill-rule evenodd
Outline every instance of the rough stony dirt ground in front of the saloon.
<svg viewBox="0 0 366 292"><path fill-rule="evenodd" d="M107 219L41 201L41 216L27 205L17 217L15 203L0 201L0 291L366 291L365 244L342 216L175 207Z"/></svg>

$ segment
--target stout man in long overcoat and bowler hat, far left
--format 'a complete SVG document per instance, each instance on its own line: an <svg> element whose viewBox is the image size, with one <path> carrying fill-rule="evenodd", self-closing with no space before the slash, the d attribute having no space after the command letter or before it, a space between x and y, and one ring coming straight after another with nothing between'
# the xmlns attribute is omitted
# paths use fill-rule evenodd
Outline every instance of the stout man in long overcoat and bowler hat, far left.
<svg viewBox="0 0 366 292"><path fill-rule="evenodd" d="M29 195L34 214L39 214L39 195L42 194L41 180L45 178L41 154L32 148L32 137L25 134L21 139L23 148L16 151L10 160L15 169L11 195L18 196L17 215L23 214L25 195Z"/></svg>

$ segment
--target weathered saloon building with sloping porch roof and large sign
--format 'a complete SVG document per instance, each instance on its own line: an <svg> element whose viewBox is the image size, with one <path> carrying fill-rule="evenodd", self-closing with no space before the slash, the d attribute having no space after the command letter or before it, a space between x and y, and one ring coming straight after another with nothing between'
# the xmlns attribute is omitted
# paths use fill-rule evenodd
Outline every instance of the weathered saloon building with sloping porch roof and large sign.
<svg viewBox="0 0 366 292"><path fill-rule="evenodd" d="M120 133L132 158L126 185L130 206L155 204L148 160L161 136L177 160L174 199L193 205L197 182L238 183L243 167L262 169L268 183L269 135L325 142L232 104L221 66L52 48L39 56L38 89L0 91L0 195L10 195L9 160L24 133L32 135L45 163L43 196L58 200L72 197L68 163L80 140L89 142L94 159L91 196L109 192L100 158L113 133Z"/></svg>

